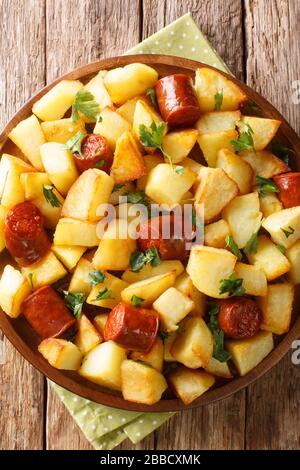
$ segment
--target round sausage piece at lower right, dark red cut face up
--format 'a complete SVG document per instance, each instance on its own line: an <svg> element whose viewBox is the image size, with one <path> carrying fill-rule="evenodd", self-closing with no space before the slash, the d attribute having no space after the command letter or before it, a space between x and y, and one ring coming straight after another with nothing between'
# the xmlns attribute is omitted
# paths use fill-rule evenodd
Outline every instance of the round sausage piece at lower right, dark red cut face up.
<svg viewBox="0 0 300 470"><path fill-rule="evenodd" d="M251 338L262 322L262 312L254 300L234 297L218 301L219 326L230 338Z"/></svg>

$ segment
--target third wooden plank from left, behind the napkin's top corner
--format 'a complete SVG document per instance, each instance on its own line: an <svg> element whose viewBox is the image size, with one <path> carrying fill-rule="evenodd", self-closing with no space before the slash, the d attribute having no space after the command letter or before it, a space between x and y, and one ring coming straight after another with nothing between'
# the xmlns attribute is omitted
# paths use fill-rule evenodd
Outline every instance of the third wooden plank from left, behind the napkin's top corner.
<svg viewBox="0 0 300 470"><path fill-rule="evenodd" d="M223 2L143 2L143 37L191 12L232 72L243 78L242 6L239 0ZM156 431L159 449L243 449L245 392L208 407L176 415ZM213 429L208 433L207 429ZM196 430L196 432L191 432Z"/></svg>

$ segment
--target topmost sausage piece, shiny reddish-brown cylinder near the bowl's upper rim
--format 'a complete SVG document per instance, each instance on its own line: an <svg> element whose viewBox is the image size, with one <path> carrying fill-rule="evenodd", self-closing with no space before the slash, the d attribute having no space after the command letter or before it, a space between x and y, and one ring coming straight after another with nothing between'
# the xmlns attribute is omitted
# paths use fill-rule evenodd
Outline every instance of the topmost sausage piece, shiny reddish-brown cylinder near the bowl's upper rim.
<svg viewBox="0 0 300 470"><path fill-rule="evenodd" d="M200 108L191 77L178 73L158 80L155 86L160 114L173 126L191 126L200 117Z"/></svg>

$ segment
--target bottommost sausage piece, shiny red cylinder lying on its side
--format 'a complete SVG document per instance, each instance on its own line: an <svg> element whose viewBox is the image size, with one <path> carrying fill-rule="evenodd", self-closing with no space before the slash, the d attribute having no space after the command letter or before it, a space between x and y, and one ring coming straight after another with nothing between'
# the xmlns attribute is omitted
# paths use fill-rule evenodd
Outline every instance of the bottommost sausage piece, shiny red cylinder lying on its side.
<svg viewBox="0 0 300 470"><path fill-rule="evenodd" d="M123 302L116 305L108 315L103 336L126 349L149 351L155 341L159 317L154 310L136 308Z"/></svg>

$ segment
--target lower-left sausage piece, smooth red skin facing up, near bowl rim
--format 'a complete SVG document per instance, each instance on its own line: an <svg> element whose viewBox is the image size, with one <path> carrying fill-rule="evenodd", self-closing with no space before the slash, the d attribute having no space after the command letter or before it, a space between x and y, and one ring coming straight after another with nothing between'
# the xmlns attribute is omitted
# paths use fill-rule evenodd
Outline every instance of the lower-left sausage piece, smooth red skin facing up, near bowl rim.
<svg viewBox="0 0 300 470"><path fill-rule="evenodd" d="M51 286L40 287L27 297L23 314L43 339L64 336L76 323L64 300Z"/></svg>

